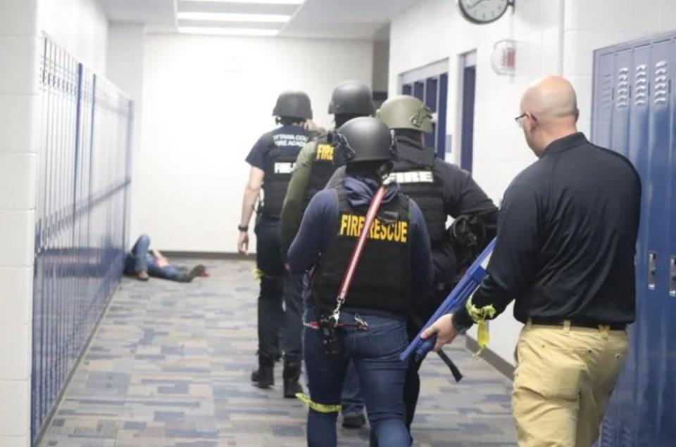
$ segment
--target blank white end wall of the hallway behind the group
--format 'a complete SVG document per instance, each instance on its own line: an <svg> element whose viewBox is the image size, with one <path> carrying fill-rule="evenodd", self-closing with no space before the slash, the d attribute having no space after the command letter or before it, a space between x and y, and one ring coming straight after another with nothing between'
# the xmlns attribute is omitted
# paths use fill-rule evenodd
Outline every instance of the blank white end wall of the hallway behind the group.
<svg viewBox="0 0 676 447"><path fill-rule="evenodd" d="M370 41L149 34L134 179L141 230L165 250L236 252L244 158L275 127L277 95L306 91L315 121L331 126L333 87L343 79L370 84L372 58Z"/></svg>

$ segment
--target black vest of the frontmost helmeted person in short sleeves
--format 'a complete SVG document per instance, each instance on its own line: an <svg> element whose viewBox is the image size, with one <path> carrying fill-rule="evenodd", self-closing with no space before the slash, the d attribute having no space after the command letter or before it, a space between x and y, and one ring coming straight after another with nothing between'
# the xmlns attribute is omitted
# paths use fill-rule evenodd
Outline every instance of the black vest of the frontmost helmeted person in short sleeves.
<svg viewBox="0 0 676 447"><path fill-rule="evenodd" d="M275 145L273 135L268 135L268 138L261 212L265 217L279 219L300 147L298 150L291 151L292 153L282 155L282 150Z"/></svg>

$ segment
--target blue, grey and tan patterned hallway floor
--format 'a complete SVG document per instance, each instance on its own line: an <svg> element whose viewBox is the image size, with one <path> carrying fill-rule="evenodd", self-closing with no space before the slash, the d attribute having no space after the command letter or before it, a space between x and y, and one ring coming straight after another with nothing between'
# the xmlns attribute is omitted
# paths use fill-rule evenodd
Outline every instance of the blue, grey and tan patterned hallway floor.
<svg viewBox="0 0 676 447"><path fill-rule="evenodd" d="M196 264L197 261L177 262ZM124 278L40 446L303 446L306 409L251 385L256 295L251 261L204 261L192 283ZM422 369L416 446L514 446L511 383L459 339ZM340 446L368 429L339 428Z"/></svg>

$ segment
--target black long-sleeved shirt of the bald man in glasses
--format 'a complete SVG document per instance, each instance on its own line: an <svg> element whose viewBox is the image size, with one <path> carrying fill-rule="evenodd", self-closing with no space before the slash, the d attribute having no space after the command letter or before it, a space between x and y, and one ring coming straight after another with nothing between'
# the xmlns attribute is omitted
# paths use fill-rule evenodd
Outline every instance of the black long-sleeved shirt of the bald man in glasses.
<svg viewBox="0 0 676 447"><path fill-rule="evenodd" d="M507 188L489 278L472 298L496 313L631 323L641 180L622 155L577 133L551 143ZM472 320L463 308L458 326Z"/></svg>

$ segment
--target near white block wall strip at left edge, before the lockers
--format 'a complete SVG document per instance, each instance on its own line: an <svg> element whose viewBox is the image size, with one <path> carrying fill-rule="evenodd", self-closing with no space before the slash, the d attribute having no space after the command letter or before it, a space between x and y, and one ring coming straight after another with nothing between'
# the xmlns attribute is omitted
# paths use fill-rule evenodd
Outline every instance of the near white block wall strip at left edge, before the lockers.
<svg viewBox="0 0 676 447"><path fill-rule="evenodd" d="M37 0L0 0L0 445L30 445Z"/></svg>

